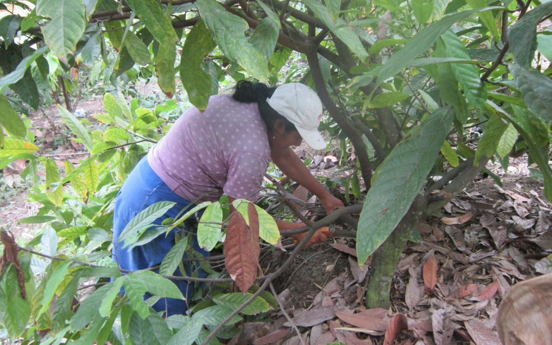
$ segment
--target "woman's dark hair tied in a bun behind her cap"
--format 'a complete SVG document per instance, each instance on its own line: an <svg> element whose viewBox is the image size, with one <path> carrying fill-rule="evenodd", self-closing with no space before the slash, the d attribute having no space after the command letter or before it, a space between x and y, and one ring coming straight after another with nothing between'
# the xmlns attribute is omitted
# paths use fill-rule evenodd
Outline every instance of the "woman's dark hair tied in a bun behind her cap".
<svg viewBox="0 0 552 345"><path fill-rule="evenodd" d="M263 83L257 82L253 84L247 80L240 80L236 84L236 91L232 95L232 98L240 103L257 103L261 119L263 119L268 130L273 129L274 122L279 118L284 120L286 131L296 130L293 123L268 105L267 98L271 97L275 90L275 87L268 87Z"/></svg>

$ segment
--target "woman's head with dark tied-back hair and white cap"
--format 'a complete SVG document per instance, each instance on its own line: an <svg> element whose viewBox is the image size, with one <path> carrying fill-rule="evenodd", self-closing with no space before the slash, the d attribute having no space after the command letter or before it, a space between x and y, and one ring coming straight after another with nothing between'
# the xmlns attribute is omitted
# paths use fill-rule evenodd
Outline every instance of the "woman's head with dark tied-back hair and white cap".
<svg viewBox="0 0 552 345"><path fill-rule="evenodd" d="M239 81L232 98L241 103L256 102L259 105L259 113L267 125L269 139L278 135L286 142L295 143L298 140L294 140L294 137L302 137L307 145L316 150L322 150L326 146L317 130L322 116L322 103L310 87L300 83L287 83L269 88L263 83ZM294 131L299 135L294 135Z"/></svg>

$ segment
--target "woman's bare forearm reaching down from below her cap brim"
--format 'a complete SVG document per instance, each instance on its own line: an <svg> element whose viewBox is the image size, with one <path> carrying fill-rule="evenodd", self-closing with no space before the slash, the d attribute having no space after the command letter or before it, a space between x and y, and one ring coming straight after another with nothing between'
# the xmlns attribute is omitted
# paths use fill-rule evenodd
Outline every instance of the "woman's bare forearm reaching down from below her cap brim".
<svg viewBox="0 0 552 345"><path fill-rule="evenodd" d="M274 164L276 164L286 176L310 190L310 192L320 199L328 214L337 208L343 207L342 201L334 197L314 176L312 176L309 169L290 147L273 151L271 155Z"/></svg>

